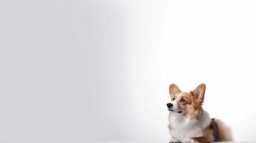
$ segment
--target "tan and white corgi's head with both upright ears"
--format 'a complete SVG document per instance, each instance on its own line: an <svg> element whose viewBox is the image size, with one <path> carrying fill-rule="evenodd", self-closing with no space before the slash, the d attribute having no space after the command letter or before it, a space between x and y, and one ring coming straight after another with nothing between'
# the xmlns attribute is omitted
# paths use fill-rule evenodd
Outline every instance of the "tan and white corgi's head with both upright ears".
<svg viewBox="0 0 256 143"><path fill-rule="evenodd" d="M198 117L202 113L205 88L205 84L200 84L191 92L181 92L176 84L171 84L169 87L171 102L167 104L168 110L189 118Z"/></svg>

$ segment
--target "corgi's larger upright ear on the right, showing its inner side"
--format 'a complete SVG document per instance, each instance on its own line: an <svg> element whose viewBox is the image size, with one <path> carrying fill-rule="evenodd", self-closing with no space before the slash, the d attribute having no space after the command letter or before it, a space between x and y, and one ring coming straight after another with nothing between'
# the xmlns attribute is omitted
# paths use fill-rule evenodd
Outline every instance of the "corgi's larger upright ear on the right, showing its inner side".
<svg viewBox="0 0 256 143"><path fill-rule="evenodd" d="M202 104L204 102L205 88L205 84L200 84L196 89L194 89L194 91L190 92L197 104Z"/></svg>

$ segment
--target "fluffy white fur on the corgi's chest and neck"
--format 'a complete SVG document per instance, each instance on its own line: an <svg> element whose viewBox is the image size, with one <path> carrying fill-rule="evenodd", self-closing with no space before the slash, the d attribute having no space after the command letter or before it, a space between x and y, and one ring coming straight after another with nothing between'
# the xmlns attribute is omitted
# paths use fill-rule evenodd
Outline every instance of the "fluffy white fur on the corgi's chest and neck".
<svg viewBox="0 0 256 143"><path fill-rule="evenodd" d="M209 126L211 119L209 114L204 112L199 119L189 119L179 113L171 113L174 116L169 118L169 129L171 137L183 141L192 137L202 137L204 129Z"/></svg>

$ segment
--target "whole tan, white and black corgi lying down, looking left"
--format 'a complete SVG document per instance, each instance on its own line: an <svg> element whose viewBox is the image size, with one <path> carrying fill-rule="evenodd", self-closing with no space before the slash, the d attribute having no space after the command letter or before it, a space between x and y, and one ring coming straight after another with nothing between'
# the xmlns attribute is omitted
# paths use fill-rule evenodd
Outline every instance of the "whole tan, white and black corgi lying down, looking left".
<svg viewBox="0 0 256 143"><path fill-rule="evenodd" d="M232 141L231 129L219 119L211 119L204 111L206 85L200 84L194 91L181 92L176 84L171 84L169 94L170 143L229 142Z"/></svg>

